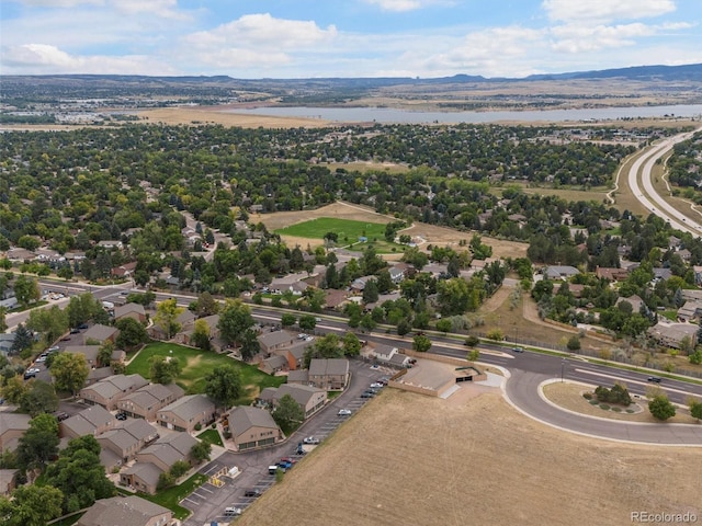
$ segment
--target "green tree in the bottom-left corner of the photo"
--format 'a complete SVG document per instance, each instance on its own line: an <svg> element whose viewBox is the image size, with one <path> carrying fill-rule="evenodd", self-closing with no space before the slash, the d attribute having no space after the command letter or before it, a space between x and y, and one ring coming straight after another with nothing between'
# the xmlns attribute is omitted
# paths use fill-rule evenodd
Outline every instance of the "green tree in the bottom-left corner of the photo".
<svg viewBox="0 0 702 526"><path fill-rule="evenodd" d="M61 515L63 500L61 491L52 485L20 485L12 501L0 503L0 518L5 526L45 526Z"/></svg>

